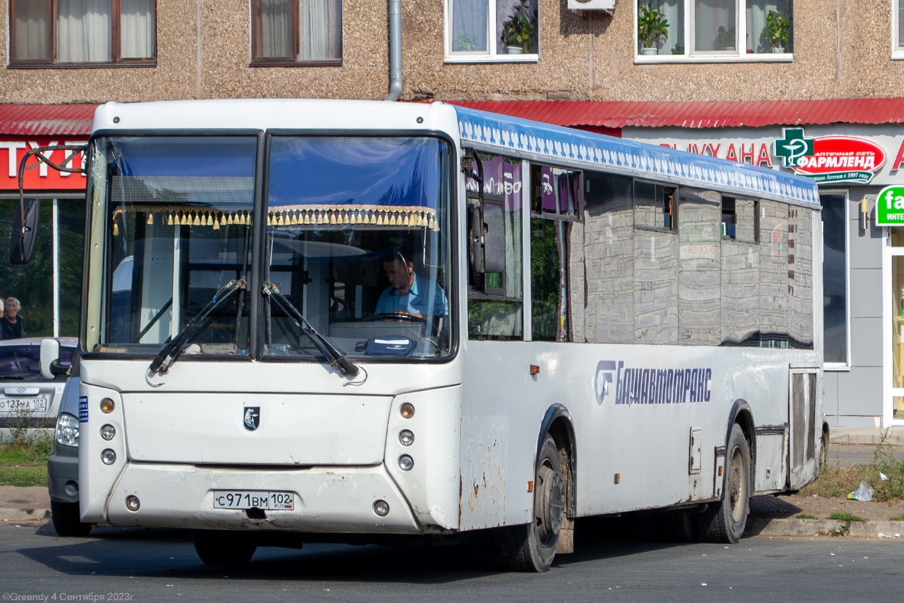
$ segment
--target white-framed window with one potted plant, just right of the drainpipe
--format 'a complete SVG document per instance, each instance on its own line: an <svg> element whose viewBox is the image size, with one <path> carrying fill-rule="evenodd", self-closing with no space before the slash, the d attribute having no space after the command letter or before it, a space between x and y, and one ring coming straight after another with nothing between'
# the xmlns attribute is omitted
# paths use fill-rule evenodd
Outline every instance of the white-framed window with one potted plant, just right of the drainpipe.
<svg viewBox="0 0 904 603"><path fill-rule="evenodd" d="M537 61L537 0L447 0L447 61Z"/></svg>

